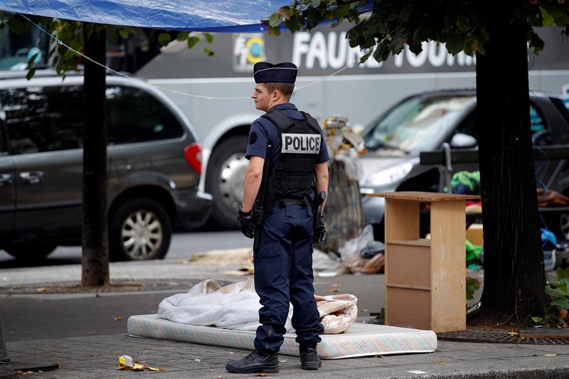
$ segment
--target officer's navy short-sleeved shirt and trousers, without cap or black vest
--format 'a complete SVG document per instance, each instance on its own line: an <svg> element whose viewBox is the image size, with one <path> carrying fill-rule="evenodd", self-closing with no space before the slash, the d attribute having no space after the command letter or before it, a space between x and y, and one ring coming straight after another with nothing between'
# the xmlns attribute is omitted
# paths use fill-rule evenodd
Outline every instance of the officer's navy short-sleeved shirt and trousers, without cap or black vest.
<svg viewBox="0 0 569 379"><path fill-rule="evenodd" d="M275 105L271 111L280 111L293 120L304 119L304 114L291 103ZM286 136L285 136L286 137ZM260 117L252 123L247 159L259 156L272 170L281 161L282 135L270 119ZM272 146L267 157L267 144ZM286 139L285 145L297 144L312 151L317 144L307 139ZM302 145L302 146L301 146ZM311 146L312 145L312 146ZM294 147L294 146L293 146ZM329 160L324 138L319 135L319 153L314 154L315 164ZM271 190L269 190L271 191ZM314 190L312 190L314 193ZM313 215L309 199L274 198L272 209L262 224L260 246L254 254L255 290L260 297L260 326L255 337L255 349L275 353L284 341L285 321L289 301L293 306L292 327L300 346L315 346L324 331L314 300L312 274Z"/></svg>

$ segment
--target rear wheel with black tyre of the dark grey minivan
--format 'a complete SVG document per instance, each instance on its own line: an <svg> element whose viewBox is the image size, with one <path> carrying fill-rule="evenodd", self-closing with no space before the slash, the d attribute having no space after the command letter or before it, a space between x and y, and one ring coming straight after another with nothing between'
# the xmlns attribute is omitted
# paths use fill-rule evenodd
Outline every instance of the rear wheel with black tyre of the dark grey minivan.
<svg viewBox="0 0 569 379"><path fill-rule="evenodd" d="M164 207L149 198L135 198L112 215L111 260L161 260L168 252L172 227Z"/></svg>

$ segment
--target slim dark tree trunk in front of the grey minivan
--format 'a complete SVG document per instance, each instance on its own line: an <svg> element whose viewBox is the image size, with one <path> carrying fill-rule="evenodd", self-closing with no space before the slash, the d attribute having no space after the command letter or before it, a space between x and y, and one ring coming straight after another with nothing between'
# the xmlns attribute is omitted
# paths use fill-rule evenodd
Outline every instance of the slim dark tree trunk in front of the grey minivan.
<svg viewBox="0 0 569 379"><path fill-rule="evenodd" d="M105 31L83 25L85 55L105 64ZM85 60L85 137L83 140L83 276L84 286L110 282L107 237L107 124L105 68Z"/></svg>

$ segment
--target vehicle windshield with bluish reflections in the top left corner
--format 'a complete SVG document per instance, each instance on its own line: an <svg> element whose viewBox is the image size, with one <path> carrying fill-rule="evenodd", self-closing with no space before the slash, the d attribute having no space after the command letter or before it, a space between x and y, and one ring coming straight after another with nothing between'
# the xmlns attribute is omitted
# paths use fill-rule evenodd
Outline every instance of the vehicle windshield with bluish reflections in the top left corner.
<svg viewBox="0 0 569 379"><path fill-rule="evenodd" d="M46 64L48 43L48 37L38 28L22 33L12 33L6 26L0 28L0 70L26 70L33 55L34 64Z"/></svg>

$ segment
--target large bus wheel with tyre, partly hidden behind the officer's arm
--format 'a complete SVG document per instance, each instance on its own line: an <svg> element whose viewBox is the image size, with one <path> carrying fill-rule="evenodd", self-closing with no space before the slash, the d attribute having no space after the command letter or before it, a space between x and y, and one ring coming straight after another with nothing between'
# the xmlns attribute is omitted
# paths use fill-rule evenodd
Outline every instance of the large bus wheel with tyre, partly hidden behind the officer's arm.
<svg viewBox="0 0 569 379"><path fill-rule="evenodd" d="M249 164L245 158L247 136L233 136L216 146L211 154L206 191L213 195L211 217L222 228L235 229L237 211L243 201L243 181Z"/></svg>

